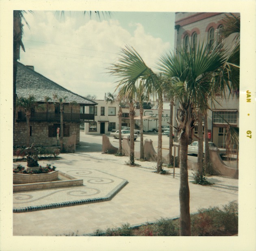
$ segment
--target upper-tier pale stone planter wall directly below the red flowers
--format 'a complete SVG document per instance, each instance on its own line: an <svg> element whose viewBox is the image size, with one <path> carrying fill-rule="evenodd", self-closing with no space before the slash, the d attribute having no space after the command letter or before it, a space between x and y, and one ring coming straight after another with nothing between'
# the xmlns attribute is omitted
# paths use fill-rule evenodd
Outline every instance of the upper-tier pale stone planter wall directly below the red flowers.
<svg viewBox="0 0 256 251"><path fill-rule="evenodd" d="M26 184L37 182L50 182L58 180L59 171L52 171L50 173L38 173L38 174L24 174L13 173L13 184Z"/></svg>

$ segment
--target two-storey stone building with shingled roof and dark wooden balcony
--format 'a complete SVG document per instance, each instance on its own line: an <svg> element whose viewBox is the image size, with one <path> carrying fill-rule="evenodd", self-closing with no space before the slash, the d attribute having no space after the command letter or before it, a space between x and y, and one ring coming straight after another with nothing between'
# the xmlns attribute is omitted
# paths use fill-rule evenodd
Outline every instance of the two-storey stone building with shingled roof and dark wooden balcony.
<svg viewBox="0 0 256 251"><path fill-rule="evenodd" d="M36 106L31 111L30 145L58 145L57 128L61 128L59 99L65 97L63 106L63 143L76 133L76 144L80 141L80 123L94 121L93 114L85 114L85 106L97 103L88 100L37 73L32 66L18 63L16 100L34 96ZM57 97L54 98L54 95ZM27 124L24 110L17 107L15 117L14 145L26 145ZM59 130L61 133L61 130ZM59 136L61 136L59 134Z"/></svg>

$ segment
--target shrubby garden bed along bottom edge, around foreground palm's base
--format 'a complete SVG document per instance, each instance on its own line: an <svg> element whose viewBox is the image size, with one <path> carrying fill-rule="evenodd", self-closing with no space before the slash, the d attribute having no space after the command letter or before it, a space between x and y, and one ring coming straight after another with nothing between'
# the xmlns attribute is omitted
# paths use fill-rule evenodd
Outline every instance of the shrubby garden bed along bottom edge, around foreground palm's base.
<svg viewBox="0 0 256 251"><path fill-rule="evenodd" d="M160 219L155 223L131 227L98 229L92 236L178 236L179 219ZM230 202L223 209L211 207L191 214L191 236L237 236L238 203Z"/></svg>

